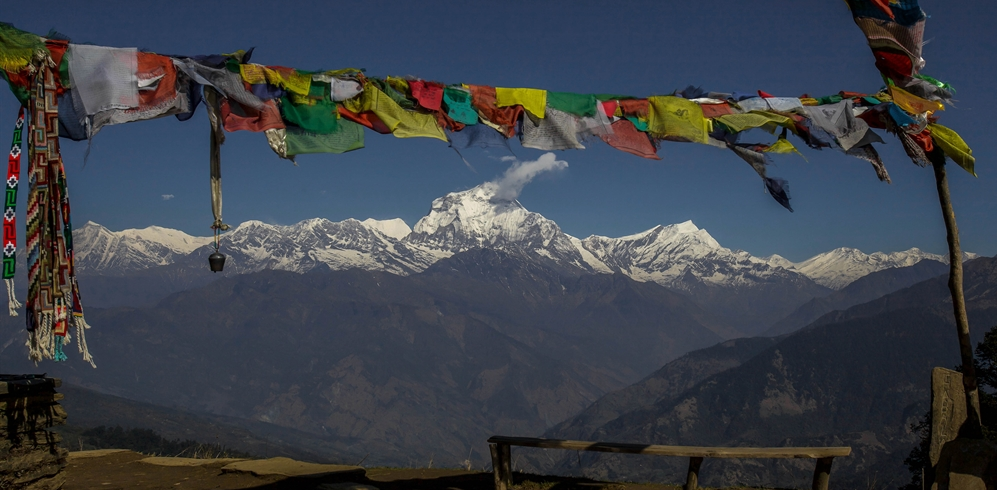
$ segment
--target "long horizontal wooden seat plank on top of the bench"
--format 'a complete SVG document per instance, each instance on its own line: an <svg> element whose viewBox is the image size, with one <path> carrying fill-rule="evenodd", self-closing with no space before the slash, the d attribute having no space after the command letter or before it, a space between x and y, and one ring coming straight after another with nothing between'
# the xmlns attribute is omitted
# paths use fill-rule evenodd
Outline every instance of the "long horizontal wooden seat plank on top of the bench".
<svg viewBox="0 0 997 490"><path fill-rule="evenodd" d="M659 456L684 456L690 458L833 458L848 456L850 447L700 447L661 446L657 444L628 444L619 442L570 441L538 439L534 437L492 436L489 443L511 446L568 449L573 451L600 451L607 453L654 454Z"/></svg>

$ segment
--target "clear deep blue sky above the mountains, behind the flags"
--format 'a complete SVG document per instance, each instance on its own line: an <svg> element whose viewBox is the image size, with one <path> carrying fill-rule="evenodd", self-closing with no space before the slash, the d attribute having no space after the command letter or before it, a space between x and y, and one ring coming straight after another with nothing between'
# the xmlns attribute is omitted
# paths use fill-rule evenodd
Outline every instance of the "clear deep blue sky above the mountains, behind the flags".
<svg viewBox="0 0 997 490"><path fill-rule="evenodd" d="M958 131L977 157L978 178L949 165L963 248L994 255L997 170L989 143L997 109L997 4L921 5L930 16L923 72L958 90L941 122ZM840 0L46 1L44 15L6 8L0 17L38 34L54 28L75 42L189 55L255 46L257 63L365 68L373 76L444 83L635 96L690 84L784 96L872 93L882 85ZM16 105L13 95L0 95L0 141L8 141ZM692 220L724 246L792 260L841 246L943 253L945 229L931 170L910 163L891 136L884 139L879 150L891 185L879 182L861 160L793 140L809 162L777 155L770 175L790 182L795 213L766 195L733 153L667 142L661 161L598 142L559 152L568 168L538 177L520 202L578 237ZM509 165L500 160L503 153L469 151L475 172L445 143L429 139L368 132L366 145L343 155L304 155L294 167L269 150L262 134L230 133L222 148L225 221L401 217L414 225L434 198L491 180ZM104 128L86 165L85 150L86 143L63 140L77 225L92 220L112 230L160 225L210 234L203 107L187 122L165 118ZM516 143L513 151L530 160L542 154ZM18 209L23 216L23 204Z"/></svg>

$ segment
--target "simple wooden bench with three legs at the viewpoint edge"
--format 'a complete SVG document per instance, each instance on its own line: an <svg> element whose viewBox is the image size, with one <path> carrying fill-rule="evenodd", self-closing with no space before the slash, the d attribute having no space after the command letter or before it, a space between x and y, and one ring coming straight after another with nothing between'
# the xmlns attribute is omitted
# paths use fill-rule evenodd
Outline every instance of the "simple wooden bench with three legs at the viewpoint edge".
<svg viewBox="0 0 997 490"><path fill-rule="evenodd" d="M817 460L814 469L813 490L827 490L831 475L831 461L848 456L850 447L695 447L659 446L656 444L625 444L619 442L565 441L533 437L492 436L488 439L492 452L492 470L495 472L495 490L512 487L511 446L569 449L573 451L601 451L606 453L655 454L689 458L689 473L684 490L699 487L699 467L703 458L810 458Z"/></svg>

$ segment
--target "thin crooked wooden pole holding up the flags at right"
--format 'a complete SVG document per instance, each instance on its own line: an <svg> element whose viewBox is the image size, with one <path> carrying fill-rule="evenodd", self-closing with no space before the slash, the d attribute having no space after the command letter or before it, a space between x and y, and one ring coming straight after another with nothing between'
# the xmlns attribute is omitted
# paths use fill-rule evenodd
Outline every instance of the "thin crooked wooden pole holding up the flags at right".
<svg viewBox="0 0 997 490"><path fill-rule="evenodd" d="M962 249L959 246L959 227L955 223L948 177L945 175L945 155L936 147L929 158L935 169L938 201L942 206L942 218L945 219L945 231L948 236L949 292L952 294L952 310L955 314L956 333L959 336L959 354L962 357L962 384L966 389L966 423L959 431L959 437L979 439L983 437L980 395L976 383L976 369L973 367L973 344L969 338L966 297L962 291Z"/></svg>

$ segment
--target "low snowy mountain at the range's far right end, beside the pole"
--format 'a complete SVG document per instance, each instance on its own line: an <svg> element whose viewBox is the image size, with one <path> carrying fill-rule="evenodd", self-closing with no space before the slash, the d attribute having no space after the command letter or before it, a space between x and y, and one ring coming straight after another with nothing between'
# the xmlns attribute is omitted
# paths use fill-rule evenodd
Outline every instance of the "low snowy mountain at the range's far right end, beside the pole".
<svg viewBox="0 0 997 490"><path fill-rule="evenodd" d="M977 254L966 252L963 260L975 259ZM769 264L797 271L817 284L831 289L841 289L860 277L873 272L896 267L912 266L922 260L937 260L948 263L947 255L938 255L911 248L903 252L863 253L855 248L836 248L830 252L815 255L800 263L793 263L778 255L766 259Z"/></svg>

